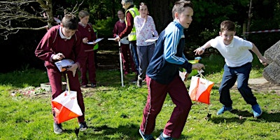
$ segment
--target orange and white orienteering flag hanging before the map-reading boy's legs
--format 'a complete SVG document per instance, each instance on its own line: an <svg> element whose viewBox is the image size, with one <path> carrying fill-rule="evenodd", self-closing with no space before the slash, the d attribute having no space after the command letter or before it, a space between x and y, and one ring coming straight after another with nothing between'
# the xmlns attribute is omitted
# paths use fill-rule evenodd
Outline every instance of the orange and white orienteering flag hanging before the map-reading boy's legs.
<svg viewBox="0 0 280 140"><path fill-rule="evenodd" d="M52 106L55 110L57 123L62 123L83 115L78 105L77 92L75 91L62 92L58 97L52 99Z"/></svg>

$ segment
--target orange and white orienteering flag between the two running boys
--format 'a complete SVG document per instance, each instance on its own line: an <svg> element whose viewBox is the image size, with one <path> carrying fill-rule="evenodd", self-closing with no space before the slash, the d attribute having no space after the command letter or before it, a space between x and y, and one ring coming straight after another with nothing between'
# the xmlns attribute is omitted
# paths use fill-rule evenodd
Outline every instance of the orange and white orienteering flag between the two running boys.
<svg viewBox="0 0 280 140"><path fill-rule="evenodd" d="M192 99L193 101L210 104L210 92L213 85L213 82L202 78L201 73L200 77L192 76L190 80L190 88L188 90L188 94L190 94L190 99Z"/></svg>

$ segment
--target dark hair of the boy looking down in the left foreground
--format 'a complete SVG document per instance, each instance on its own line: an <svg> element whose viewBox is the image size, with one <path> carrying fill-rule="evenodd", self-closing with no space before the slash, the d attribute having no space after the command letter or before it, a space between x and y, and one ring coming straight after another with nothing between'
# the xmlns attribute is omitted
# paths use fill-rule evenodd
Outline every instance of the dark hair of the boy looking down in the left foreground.
<svg viewBox="0 0 280 140"><path fill-rule="evenodd" d="M78 20L75 15L66 14L64 18L62 18L62 25L67 29L78 29Z"/></svg>

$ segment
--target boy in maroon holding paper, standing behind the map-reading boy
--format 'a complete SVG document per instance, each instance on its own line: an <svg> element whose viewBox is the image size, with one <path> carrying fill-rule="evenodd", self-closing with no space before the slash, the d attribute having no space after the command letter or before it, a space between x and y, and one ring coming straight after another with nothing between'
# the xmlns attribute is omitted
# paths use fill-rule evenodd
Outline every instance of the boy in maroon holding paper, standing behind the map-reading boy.
<svg viewBox="0 0 280 140"><path fill-rule="evenodd" d="M81 67L81 79L82 79L82 86L87 87L87 71L88 71L88 78L90 80L91 87L96 87L97 81L96 78L96 68L95 68L95 61L94 61L94 50L93 47L96 43L87 44L87 42L94 42L97 39L97 36L92 29L92 25L88 23L90 20L90 13L86 10L80 10L78 13L80 18L80 22L78 23L78 31L80 31L81 37L83 39L83 48L85 49L86 60L85 64Z"/></svg>

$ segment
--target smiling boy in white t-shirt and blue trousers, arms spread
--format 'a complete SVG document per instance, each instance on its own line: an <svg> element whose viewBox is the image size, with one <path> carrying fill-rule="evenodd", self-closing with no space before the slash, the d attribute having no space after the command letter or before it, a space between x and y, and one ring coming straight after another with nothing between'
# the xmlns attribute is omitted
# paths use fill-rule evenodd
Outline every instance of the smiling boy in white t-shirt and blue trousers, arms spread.
<svg viewBox="0 0 280 140"><path fill-rule="evenodd" d="M260 54L255 44L235 36L235 33L235 23L225 20L221 23L220 36L211 39L202 47L194 50L194 52L195 55L202 55L206 48L213 47L225 58L223 79L219 88L220 102L223 104L223 107L217 112L217 115L221 115L225 111L232 111L230 88L237 81L237 89L246 103L251 104L253 116L257 118L262 115L262 110L251 88L248 87L248 78L252 68L251 62L253 61L253 55L250 50L258 56L260 62L265 66L268 64L267 59Z"/></svg>

